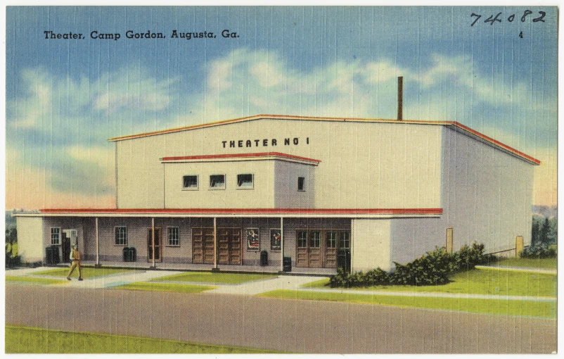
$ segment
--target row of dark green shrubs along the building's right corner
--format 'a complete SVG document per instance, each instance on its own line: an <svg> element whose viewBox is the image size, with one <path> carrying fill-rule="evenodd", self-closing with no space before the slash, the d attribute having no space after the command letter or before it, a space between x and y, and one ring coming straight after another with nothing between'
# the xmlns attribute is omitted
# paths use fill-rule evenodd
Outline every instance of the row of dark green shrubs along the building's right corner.
<svg viewBox="0 0 564 359"><path fill-rule="evenodd" d="M441 248L427 252L416 260L402 265L395 264L395 271L385 272L380 268L368 272L347 273L342 268L331 277L331 287L373 286L373 285L437 285L447 284L449 275L461 270L469 270L475 265L491 263L495 257L484 254L484 245L474 243L464 245L459 251L449 254Z"/></svg>

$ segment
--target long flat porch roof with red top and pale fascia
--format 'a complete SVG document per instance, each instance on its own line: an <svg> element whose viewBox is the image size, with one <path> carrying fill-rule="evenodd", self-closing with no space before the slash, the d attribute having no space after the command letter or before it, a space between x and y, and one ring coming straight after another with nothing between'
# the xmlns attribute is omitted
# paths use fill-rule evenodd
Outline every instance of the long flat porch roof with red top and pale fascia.
<svg viewBox="0 0 564 359"><path fill-rule="evenodd" d="M411 218L437 217L442 208L46 208L18 217L270 217Z"/></svg>

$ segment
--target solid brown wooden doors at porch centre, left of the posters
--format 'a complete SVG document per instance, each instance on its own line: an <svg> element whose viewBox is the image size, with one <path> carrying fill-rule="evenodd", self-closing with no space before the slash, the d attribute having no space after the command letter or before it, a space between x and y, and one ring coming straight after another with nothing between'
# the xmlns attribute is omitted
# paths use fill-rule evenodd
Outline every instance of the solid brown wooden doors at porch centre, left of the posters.
<svg viewBox="0 0 564 359"><path fill-rule="evenodd" d="M241 228L217 228L217 263L241 265L243 245ZM214 229L212 227L192 228L192 263L214 263Z"/></svg>

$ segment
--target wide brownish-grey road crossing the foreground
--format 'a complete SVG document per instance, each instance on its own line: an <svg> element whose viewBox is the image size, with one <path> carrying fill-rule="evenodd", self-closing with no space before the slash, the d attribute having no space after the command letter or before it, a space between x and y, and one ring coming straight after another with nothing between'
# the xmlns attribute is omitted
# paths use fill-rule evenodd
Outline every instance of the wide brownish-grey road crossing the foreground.
<svg viewBox="0 0 564 359"><path fill-rule="evenodd" d="M557 341L541 318L9 283L6 323L299 353L552 353Z"/></svg>

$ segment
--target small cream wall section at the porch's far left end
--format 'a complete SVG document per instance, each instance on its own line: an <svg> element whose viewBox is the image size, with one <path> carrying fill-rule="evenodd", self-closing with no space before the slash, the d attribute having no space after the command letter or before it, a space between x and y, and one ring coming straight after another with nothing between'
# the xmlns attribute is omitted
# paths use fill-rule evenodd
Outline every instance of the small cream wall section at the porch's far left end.
<svg viewBox="0 0 564 359"><path fill-rule="evenodd" d="M18 254L23 262L38 262L44 258L43 218L16 217Z"/></svg>

